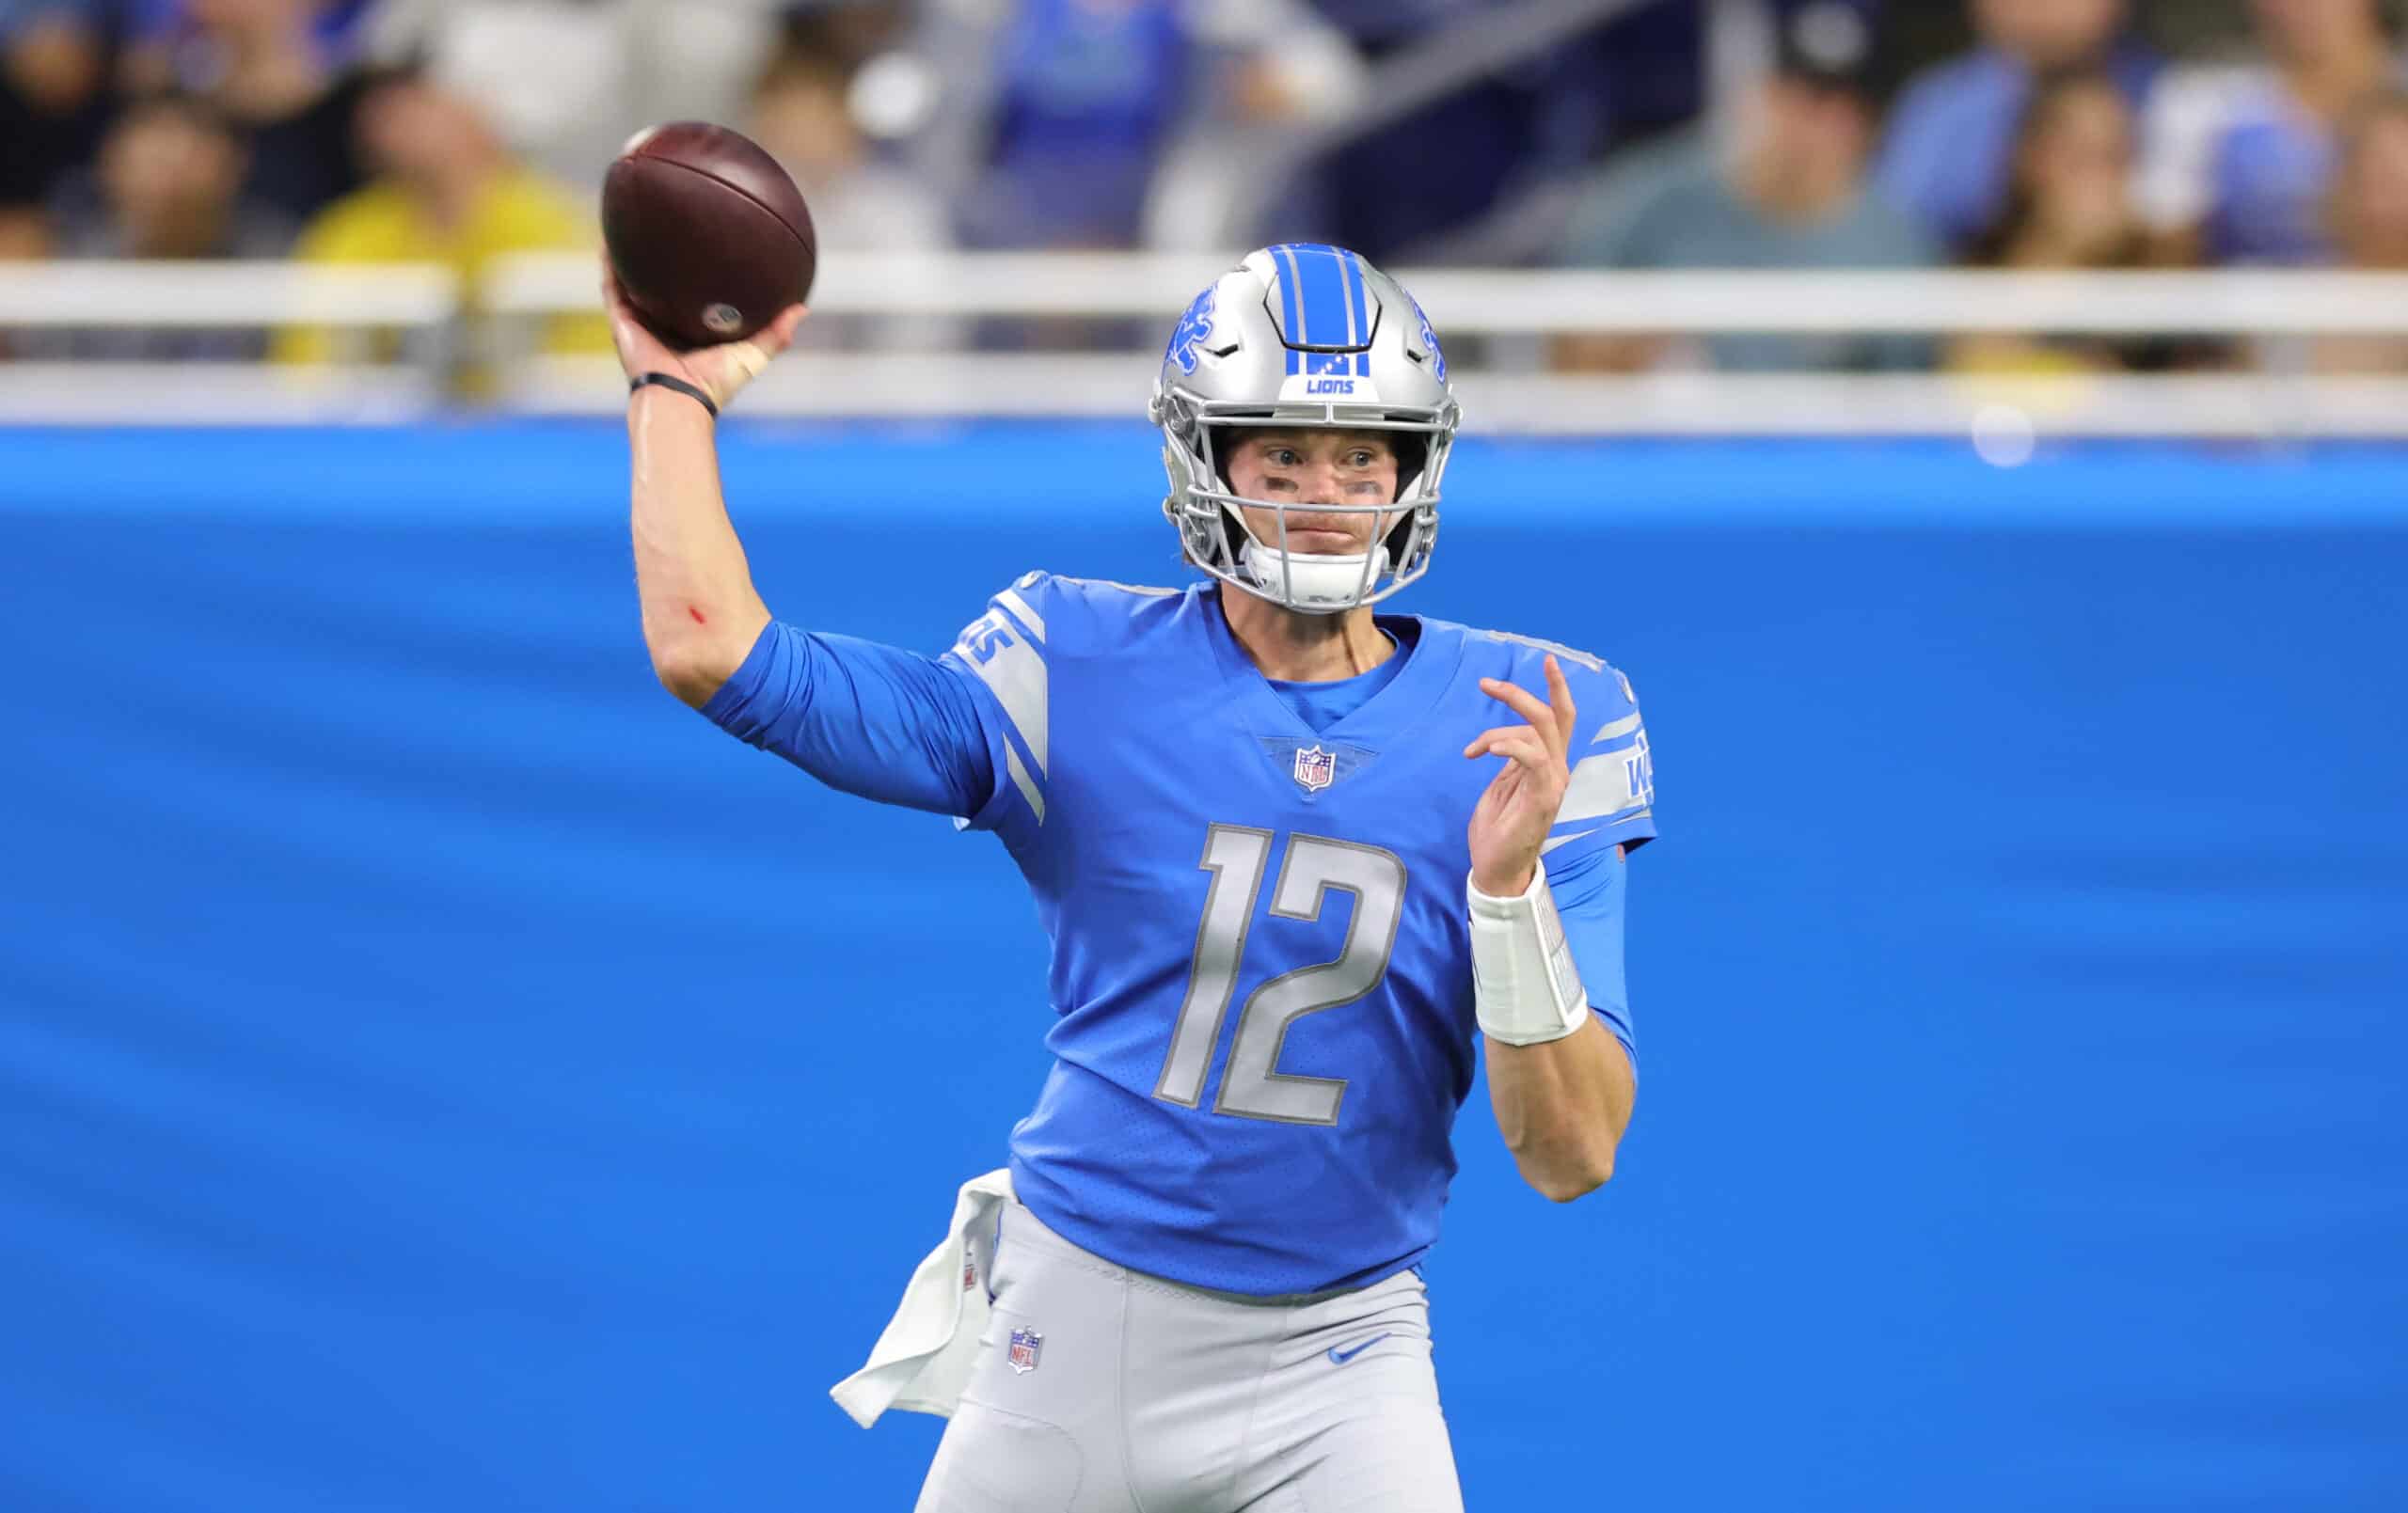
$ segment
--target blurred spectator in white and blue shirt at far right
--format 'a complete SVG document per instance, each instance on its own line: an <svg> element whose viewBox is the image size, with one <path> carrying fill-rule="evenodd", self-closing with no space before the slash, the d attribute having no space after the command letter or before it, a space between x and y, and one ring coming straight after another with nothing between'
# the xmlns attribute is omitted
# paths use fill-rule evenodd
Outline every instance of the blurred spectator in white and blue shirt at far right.
<svg viewBox="0 0 2408 1513"><path fill-rule="evenodd" d="M2321 262L2336 125L2398 77L2382 0L2251 0L2264 63L2172 70L2141 135L2141 214L2172 255Z"/></svg>

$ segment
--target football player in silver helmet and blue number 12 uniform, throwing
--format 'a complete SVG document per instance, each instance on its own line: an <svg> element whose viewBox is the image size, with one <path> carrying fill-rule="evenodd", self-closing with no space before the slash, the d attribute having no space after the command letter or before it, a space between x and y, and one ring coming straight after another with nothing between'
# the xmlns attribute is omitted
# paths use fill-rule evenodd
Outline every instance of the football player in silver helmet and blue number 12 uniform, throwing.
<svg viewBox="0 0 2408 1513"><path fill-rule="evenodd" d="M653 339L645 640L672 693L821 782L990 830L1052 943L1052 1070L869 1366L949 1414L925 1513L1459 1513L1421 1258L1481 1056L1524 1179L1630 1121L1623 859L1654 837L1628 678L1375 609L1435 551L1459 407L1413 298L1262 248L1180 318L1151 414L1204 582L1026 572L949 652L775 621L710 421L783 349Z"/></svg>

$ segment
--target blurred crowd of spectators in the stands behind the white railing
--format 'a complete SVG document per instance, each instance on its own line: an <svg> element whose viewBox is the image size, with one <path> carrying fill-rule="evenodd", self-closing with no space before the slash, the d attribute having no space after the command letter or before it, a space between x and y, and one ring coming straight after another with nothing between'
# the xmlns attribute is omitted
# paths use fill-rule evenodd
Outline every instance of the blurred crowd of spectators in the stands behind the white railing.
<svg viewBox="0 0 2408 1513"><path fill-rule="evenodd" d="M710 118L785 161L848 255L1324 238L1507 267L2403 269L2403 58L2386 0L0 0L0 257L431 260L474 289L503 253L592 245L633 130ZM327 351L0 332L0 356ZM1551 351L2242 356L2047 332ZM2389 339L2314 361L2408 370Z"/></svg>

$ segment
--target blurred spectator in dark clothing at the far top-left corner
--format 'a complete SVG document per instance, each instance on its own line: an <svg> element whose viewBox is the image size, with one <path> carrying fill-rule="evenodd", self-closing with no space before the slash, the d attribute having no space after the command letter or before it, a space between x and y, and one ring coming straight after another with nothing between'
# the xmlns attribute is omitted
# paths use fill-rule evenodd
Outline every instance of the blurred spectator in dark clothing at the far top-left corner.
<svg viewBox="0 0 2408 1513"><path fill-rule="evenodd" d="M43 202L106 115L108 0L0 0L0 257L48 245Z"/></svg>

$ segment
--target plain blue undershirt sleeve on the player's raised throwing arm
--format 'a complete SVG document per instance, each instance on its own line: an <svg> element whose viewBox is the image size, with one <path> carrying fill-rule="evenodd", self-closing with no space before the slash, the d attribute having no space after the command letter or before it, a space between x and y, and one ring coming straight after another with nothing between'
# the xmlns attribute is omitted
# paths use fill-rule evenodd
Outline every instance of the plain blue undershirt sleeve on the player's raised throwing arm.
<svg viewBox="0 0 2408 1513"><path fill-rule="evenodd" d="M703 717L824 784L999 827L1002 710L951 661L771 623Z"/></svg>

